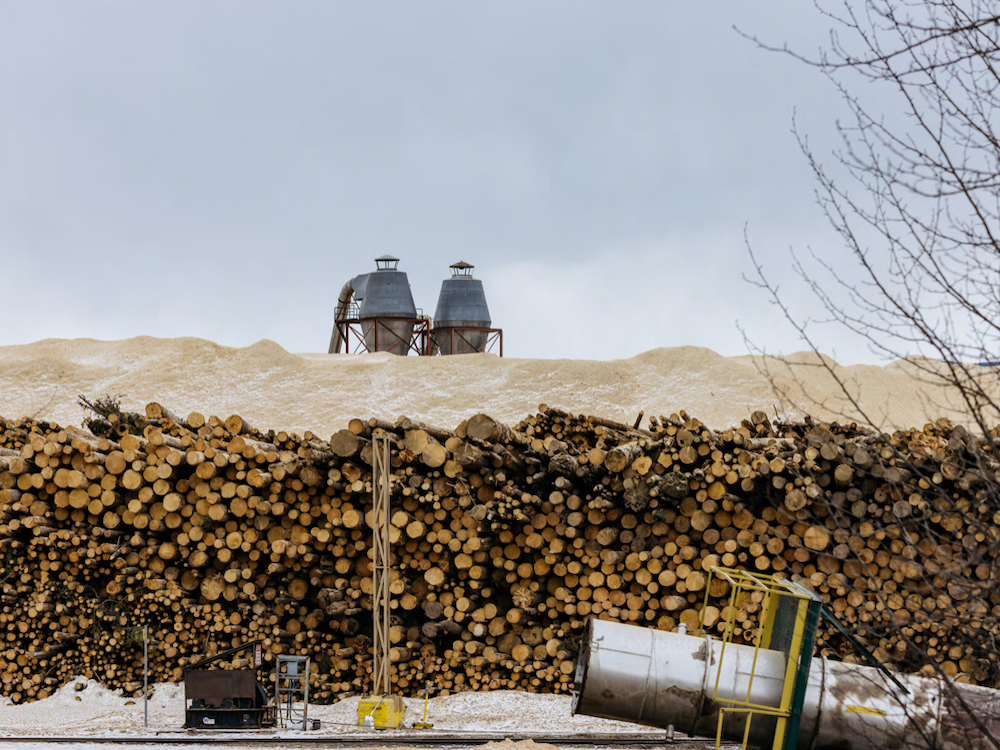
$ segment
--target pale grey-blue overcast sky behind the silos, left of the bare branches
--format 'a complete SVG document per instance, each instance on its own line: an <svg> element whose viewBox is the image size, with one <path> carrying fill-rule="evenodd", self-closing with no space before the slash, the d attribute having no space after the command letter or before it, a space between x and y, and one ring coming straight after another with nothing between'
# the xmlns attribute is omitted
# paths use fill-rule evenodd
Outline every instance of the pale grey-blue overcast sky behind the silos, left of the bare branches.
<svg viewBox="0 0 1000 750"><path fill-rule="evenodd" d="M803 0L0 0L0 344L325 351L389 253L427 313L474 264L508 356L802 349L743 231L796 299L789 248L836 239L792 118L841 110L734 25L826 34Z"/></svg>

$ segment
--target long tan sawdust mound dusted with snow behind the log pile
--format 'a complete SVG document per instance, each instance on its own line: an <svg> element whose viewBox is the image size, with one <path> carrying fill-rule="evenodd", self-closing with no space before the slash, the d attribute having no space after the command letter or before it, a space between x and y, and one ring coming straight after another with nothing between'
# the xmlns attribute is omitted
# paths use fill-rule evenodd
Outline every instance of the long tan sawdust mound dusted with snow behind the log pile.
<svg viewBox="0 0 1000 750"><path fill-rule="evenodd" d="M939 417L968 423L961 405L910 360L841 367L811 353L723 357L710 349L654 349L626 360L291 354L273 341L231 348L195 338L48 339L0 347L0 415L79 424L76 397L123 395L140 411L238 413L252 423L328 436L353 417L454 426L477 412L516 422L539 403L632 422L681 409L710 427L763 409L797 418L855 420L883 429ZM931 365L933 368L933 365ZM843 396L846 385L855 399ZM998 393L1000 395L1000 393Z"/></svg>

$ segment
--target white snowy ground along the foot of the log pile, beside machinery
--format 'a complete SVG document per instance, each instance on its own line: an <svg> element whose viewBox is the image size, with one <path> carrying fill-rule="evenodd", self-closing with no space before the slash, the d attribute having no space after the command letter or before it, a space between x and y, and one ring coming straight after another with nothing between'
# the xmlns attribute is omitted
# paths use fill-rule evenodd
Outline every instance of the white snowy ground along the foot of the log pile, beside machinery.
<svg viewBox="0 0 1000 750"><path fill-rule="evenodd" d="M77 685L83 685L77 690ZM449 732L649 732L662 736L662 730L617 721L570 714L568 695L541 695L516 690L488 693L457 693L431 698L427 720L433 730ZM360 697L347 698L329 706L309 706L309 717L319 719L321 728L309 736L337 736L364 733L358 727ZM421 698L406 699L403 724L412 727L423 718ZM120 691L103 687L96 680L70 680L48 698L14 705L0 698L0 742L2 737L44 733L48 736L156 735L178 731L184 724L184 686L160 684L150 689L149 729L143 728L142 698L123 696ZM296 736L277 730L282 736ZM301 735L299 735L301 736ZM423 736L423 735L421 735Z"/></svg>

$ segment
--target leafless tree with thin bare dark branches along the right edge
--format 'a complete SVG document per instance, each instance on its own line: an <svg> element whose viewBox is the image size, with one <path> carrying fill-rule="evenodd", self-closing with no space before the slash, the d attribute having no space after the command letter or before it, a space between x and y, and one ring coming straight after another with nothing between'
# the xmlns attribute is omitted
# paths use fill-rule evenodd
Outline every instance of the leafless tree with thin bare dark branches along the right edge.
<svg viewBox="0 0 1000 750"><path fill-rule="evenodd" d="M946 387L968 414L971 432L954 432L930 462L961 466L957 491L939 491L921 460L905 466L932 508L960 514L961 528L942 529L933 513L892 523L904 538L932 538L937 550L946 550L948 559L932 559L925 568L921 596L950 591L977 606L951 601L919 615L940 618L956 645L974 646L981 676L1000 685L992 615L1000 611L994 521L1000 519L1000 6L831 0L816 7L831 28L824 49L810 56L794 46L768 48L817 69L846 107L832 154L818 153L796 129L819 204L841 242L835 252L793 253L793 264L826 311L822 322L847 329L886 360L910 358L911 367ZM766 39L754 40L767 46ZM775 259L748 246L752 281L807 345L822 351L815 324L802 322L774 282ZM834 363L816 363L864 416ZM884 602L884 592L872 593ZM879 627L892 626L876 622L862 635L877 642ZM925 644L908 646L911 659L941 673L940 657Z"/></svg>

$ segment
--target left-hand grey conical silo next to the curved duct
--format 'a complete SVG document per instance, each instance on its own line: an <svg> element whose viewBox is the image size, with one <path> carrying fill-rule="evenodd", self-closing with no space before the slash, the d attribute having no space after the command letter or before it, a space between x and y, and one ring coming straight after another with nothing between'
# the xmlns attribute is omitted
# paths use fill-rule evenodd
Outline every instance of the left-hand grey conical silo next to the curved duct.
<svg viewBox="0 0 1000 750"><path fill-rule="evenodd" d="M377 270L354 280L354 299L368 350L405 356L417 308L410 282L398 266L399 258L390 255L376 258Z"/></svg>

